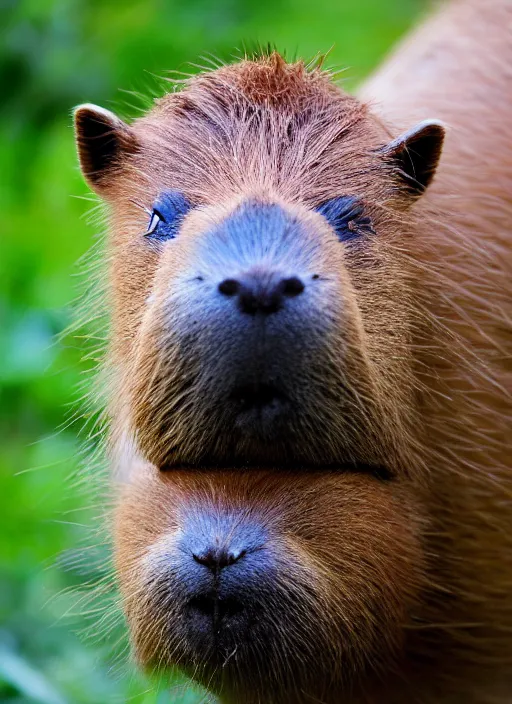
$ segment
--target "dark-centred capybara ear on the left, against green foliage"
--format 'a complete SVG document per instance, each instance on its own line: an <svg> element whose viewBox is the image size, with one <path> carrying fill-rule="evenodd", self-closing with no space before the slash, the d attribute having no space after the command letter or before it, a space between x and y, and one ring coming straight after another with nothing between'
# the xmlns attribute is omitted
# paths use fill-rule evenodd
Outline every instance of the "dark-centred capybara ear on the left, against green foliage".
<svg viewBox="0 0 512 704"><path fill-rule="evenodd" d="M75 108L75 138L85 180L107 197L116 169L137 150L132 129L110 110L86 103Z"/></svg>

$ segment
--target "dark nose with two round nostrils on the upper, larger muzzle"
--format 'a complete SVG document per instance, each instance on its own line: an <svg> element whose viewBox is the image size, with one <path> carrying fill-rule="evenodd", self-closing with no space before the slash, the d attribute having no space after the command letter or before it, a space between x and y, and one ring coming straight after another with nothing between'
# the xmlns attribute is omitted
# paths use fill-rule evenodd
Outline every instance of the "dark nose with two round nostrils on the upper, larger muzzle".
<svg viewBox="0 0 512 704"><path fill-rule="evenodd" d="M287 298L299 296L304 283L298 276L283 276L266 268L254 268L219 284L223 296L236 300L239 310L248 315L277 313Z"/></svg>

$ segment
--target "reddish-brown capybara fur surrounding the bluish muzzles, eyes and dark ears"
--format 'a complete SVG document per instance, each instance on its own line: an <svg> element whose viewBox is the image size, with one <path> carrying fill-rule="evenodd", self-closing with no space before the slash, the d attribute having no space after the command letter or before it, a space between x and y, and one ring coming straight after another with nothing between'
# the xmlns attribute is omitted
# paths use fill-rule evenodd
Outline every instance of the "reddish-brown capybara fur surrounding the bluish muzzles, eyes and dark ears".
<svg viewBox="0 0 512 704"><path fill-rule="evenodd" d="M84 171L111 206L116 565L142 664L177 663L243 704L510 698L511 23L506 0L454 3L363 102L277 55L203 74L129 128L113 125L122 158L106 174L88 168L90 115L78 112ZM447 123L446 147L413 203L379 148L431 117ZM151 207L166 188L201 207L172 247L151 249L134 203ZM364 253L311 210L345 194L364 201L377 232ZM207 399L184 385L192 362L162 316L202 234L247 197L309 228L344 304L326 300L339 326L324 371L331 389L346 383L352 413L326 411L327 431L274 457L231 446L214 421L210 432ZM181 468L204 456L213 468ZM354 457L394 478L325 466ZM233 468L247 458L259 466ZM197 502L258 515L286 555L272 639L214 668L187 650L179 596L158 581Z"/></svg>

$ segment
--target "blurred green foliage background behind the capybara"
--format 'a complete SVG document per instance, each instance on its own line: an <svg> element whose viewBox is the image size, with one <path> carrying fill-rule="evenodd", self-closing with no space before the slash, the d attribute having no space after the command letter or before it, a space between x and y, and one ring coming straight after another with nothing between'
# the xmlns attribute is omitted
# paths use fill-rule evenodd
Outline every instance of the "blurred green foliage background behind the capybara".
<svg viewBox="0 0 512 704"><path fill-rule="evenodd" d="M347 67L352 90L424 4L0 0L0 702L204 700L179 679L169 690L136 675L109 609L77 594L109 570L87 528L98 522L87 473L76 479L80 422L68 423L93 365L82 359L87 329L60 335L97 234L72 107L133 117L132 92L160 92L155 76L258 42L305 58L332 47L328 64Z"/></svg>

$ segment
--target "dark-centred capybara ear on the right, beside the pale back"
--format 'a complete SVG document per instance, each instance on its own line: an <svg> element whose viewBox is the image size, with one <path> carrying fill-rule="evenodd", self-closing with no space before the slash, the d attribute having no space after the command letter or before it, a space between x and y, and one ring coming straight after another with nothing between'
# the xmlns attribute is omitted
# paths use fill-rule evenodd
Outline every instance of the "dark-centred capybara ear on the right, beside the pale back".
<svg viewBox="0 0 512 704"><path fill-rule="evenodd" d="M409 196L421 196L434 178L445 132L439 120L424 120L380 149L399 174Z"/></svg>

